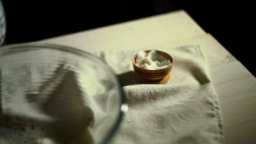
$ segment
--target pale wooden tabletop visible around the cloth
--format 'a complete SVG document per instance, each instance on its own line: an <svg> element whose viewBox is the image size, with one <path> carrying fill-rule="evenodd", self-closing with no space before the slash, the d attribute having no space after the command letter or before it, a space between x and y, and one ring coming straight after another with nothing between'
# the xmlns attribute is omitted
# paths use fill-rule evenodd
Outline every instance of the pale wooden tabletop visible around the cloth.
<svg viewBox="0 0 256 144"><path fill-rule="evenodd" d="M256 79L183 10L45 39L95 52L199 44L208 59L224 119L225 143L256 142Z"/></svg>

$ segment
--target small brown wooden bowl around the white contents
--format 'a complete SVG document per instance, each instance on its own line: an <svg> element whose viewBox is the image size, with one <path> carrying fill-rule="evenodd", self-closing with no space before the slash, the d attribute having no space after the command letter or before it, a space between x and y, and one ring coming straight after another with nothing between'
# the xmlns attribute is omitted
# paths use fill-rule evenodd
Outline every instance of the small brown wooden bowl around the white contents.
<svg viewBox="0 0 256 144"><path fill-rule="evenodd" d="M144 52L149 52L150 50L144 51ZM169 65L167 68L164 69L158 69L158 70L148 70L148 69L142 69L137 67L136 65L136 55L133 56L132 58L132 64L133 64L133 69L135 71L135 74L144 79L144 80L148 80L148 81L159 81L161 79L164 79L171 71L172 67L173 67L173 59L170 55L168 55L168 53L162 52L162 51L158 51L155 50L156 52L158 52L160 55L164 56L167 59L170 59L171 61L171 65ZM170 76L168 76L170 78Z"/></svg>

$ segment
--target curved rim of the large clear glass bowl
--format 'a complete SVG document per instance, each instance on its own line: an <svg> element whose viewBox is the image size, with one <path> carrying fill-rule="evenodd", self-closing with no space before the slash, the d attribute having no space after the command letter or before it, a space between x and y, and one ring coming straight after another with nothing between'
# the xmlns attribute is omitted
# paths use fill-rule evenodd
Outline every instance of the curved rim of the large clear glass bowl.
<svg viewBox="0 0 256 144"><path fill-rule="evenodd" d="M0 57L5 55L11 55L15 52L21 52L21 51L33 51L38 49L53 49L53 50L59 50L63 52L69 52L73 53L74 55L79 55L82 57L89 57L93 60L96 60L102 64L105 65L105 67L111 71L111 73L114 75L115 80L118 82L117 87L120 94L120 106L119 106L119 112L118 116L115 119L115 123L113 124L113 127L109 130L109 133L106 134L104 139L100 143L108 143L110 140L113 139L115 133L117 133L118 128L120 127L121 120L123 118L124 113L126 113L125 109L123 107L127 107L126 104L126 98L125 93L123 91L123 86L121 84L121 81L117 75L115 75L114 71L109 67L109 65L104 62L101 58L98 58L95 55L92 55L92 53L76 49L71 46L65 46L65 45L59 45L59 44L51 44L51 43L22 43L22 44L10 44L10 45L4 45L0 47Z"/></svg>

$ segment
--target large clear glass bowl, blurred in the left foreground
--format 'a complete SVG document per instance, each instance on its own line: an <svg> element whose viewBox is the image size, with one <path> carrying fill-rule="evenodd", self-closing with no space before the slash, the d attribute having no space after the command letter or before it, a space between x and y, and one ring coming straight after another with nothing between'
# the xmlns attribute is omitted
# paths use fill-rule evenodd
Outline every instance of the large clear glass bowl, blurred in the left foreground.
<svg viewBox="0 0 256 144"><path fill-rule="evenodd" d="M0 142L107 143L124 94L100 58L72 47L0 47Z"/></svg>

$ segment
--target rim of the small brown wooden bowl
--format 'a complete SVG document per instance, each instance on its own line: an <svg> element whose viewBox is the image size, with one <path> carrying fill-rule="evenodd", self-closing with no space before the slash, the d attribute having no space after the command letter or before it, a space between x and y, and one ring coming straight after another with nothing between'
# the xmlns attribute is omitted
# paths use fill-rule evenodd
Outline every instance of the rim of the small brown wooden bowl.
<svg viewBox="0 0 256 144"><path fill-rule="evenodd" d="M144 52L149 52L149 51L152 51L152 50L144 50ZM159 51L159 50L155 50L156 52L158 52L160 55L164 56L165 58L168 58L170 59L171 61L171 64L167 67L167 68L164 68L164 69L157 69L157 70L148 70L148 69L143 69L143 68L140 68L136 65L136 54L132 57L132 64L133 64L133 68L139 70L139 71L142 71L143 73L162 73L163 71L167 71L168 69L171 69L173 67L173 58L171 55L169 55L168 53L164 52L164 51ZM168 57L166 57L168 56Z"/></svg>

